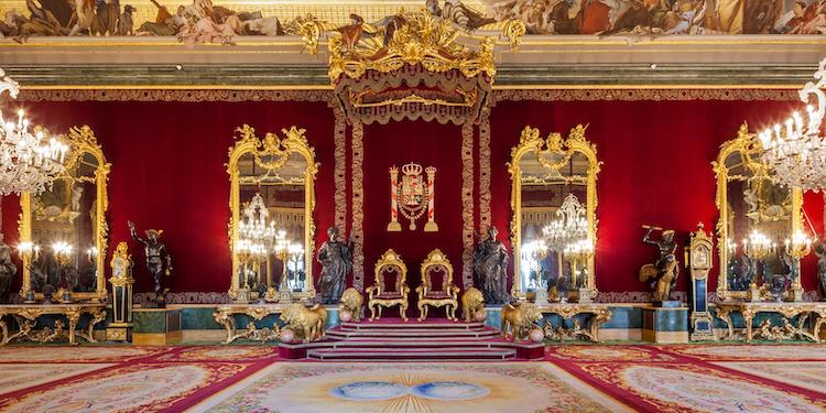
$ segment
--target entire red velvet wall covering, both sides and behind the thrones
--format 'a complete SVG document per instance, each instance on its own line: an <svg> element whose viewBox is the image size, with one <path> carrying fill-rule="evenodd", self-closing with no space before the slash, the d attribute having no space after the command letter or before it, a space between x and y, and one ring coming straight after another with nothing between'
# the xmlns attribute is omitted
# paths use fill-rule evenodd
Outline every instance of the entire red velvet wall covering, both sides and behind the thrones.
<svg viewBox="0 0 826 413"><path fill-rule="evenodd" d="M326 228L333 224L334 116L324 102L89 101L24 106L35 123L55 131L65 131L72 124L91 126L112 163L109 252L117 241L128 239L127 219L134 220L140 230L164 229L163 239L175 259L176 273L170 281L175 292L224 292L229 286L229 181L225 163L233 130L244 122L261 135L292 124L307 130L322 164L316 186L316 244L326 239ZM597 285L605 292L646 290L637 281L637 271L652 260L653 251L641 242L640 226L674 228L682 233L682 241L697 221L713 230L717 210L710 162L719 144L733 138L743 120L757 130L763 122L786 117L794 106L765 101L499 102L490 118L492 221L507 242L511 211L504 164L522 128L539 127L546 135L589 123L587 135L596 142L599 159L605 162L598 180ZM417 283L419 265L433 248L448 254L460 284L460 129L453 124L405 121L365 128L366 285L372 282L374 262L390 247L409 263L413 285ZM478 148L474 153L478 156ZM438 232L385 230L390 219L387 169L410 161L438 169ZM477 160L477 176L478 166ZM347 185L349 194L349 176ZM476 187L478 198L478 183ZM807 194L805 209L822 235L823 198ZM349 199L347 210L351 213ZM13 246L18 239L17 197L3 199L2 213L3 232ZM478 221L478 210L476 217ZM406 221L401 224L405 226ZM130 246L139 262L138 291L150 291L143 252L137 243L130 241ZM815 287L814 271L814 257L809 257L803 271L808 290ZM713 274L711 289L715 279ZM681 283L681 290L684 285Z"/></svg>

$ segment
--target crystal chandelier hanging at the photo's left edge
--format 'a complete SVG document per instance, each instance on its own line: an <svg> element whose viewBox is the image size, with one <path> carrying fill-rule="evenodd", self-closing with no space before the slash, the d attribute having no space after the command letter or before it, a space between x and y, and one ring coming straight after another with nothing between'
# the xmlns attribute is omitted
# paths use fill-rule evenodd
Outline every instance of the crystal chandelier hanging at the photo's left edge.
<svg viewBox="0 0 826 413"><path fill-rule="evenodd" d="M20 85L0 69L0 95L17 98ZM0 111L0 194L40 194L64 171L68 146L42 130L30 131L29 120L18 111L18 120L7 120Z"/></svg>

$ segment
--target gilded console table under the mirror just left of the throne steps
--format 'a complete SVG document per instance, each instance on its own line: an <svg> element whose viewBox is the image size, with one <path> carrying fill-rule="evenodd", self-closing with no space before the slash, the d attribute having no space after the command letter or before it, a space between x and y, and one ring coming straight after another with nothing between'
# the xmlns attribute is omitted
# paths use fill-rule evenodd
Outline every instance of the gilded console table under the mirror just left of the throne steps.
<svg viewBox="0 0 826 413"><path fill-rule="evenodd" d="M227 339L224 344L230 344L239 338L247 338L256 341L271 341L279 338L281 328L273 324L273 328L257 328L256 322L260 322L268 315L281 314L284 305L280 304L240 304L222 305L215 309L213 317L215 322L224 326L227 330ZM238 332L236 326L236 315L247 315L252 317L253 322L247 324L247 328Z"/></svg>

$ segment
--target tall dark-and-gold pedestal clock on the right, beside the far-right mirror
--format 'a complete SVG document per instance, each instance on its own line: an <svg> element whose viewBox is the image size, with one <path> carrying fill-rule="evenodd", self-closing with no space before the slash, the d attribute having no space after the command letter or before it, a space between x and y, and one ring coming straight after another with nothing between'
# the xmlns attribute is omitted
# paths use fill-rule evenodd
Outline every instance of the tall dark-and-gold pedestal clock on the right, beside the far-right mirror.
<svg viewBox="0 0 826 413"><path fill-rule="evenodd" d="M691 289L691 340L715 340L714 318L708 312L708 272L713 264L713 242L703 222L689 235L685 248L685 267L692 276Z"/></svg>

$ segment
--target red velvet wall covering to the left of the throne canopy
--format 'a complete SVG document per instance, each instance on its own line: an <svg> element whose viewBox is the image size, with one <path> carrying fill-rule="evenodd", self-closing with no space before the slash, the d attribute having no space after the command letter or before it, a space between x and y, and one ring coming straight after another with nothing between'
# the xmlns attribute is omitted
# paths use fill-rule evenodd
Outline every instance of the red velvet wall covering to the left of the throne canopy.
<svg viewBox="0 0 826 413"><path fill-rule="evenodd" d="M143 251L129 237L127 220L139 231L164 229L174 260L173 292L225 292L231 261L227 241L229 175L225 164L243 123L263 137L298 126L315 148L318 170L317 228L333 222L333 112L325 102L48 102L24 106L35 123L53 131L89 124L112 164L109 180L109 253L129 240L135 291L151 291ZM17 197L3 202L3 232L15 244ZM324 230L322 230L324 231ZM318 238L323 241L323 238ZM107 269L109 259L106 260ZM315 271L317 273L317 269Z"/></svg>

